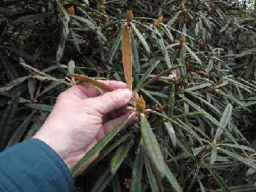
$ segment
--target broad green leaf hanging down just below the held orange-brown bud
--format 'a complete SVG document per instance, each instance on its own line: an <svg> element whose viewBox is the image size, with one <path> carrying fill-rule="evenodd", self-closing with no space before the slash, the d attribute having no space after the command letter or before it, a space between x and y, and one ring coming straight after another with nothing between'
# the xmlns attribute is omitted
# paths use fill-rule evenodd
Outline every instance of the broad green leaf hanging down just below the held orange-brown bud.
<svg viewBox="0 0 256 192"><path fill-rule="evenodd" d="M144 140L145 148L149 153L153 166L156 167L159 176L162 178L165 174L165 162L163 161L161 149L156 136L149 125L149 121L143 113L140 114L141 135Z"/></svg>

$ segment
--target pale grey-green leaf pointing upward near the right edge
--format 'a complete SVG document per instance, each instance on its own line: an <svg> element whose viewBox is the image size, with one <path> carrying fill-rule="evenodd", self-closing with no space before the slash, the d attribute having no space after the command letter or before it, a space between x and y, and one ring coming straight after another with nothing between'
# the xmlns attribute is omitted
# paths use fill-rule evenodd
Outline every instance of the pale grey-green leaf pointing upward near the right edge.
<svg viewBox="0 0 256 192"><path fill-rule="evenodd" d="M221 127L217 128L214 139L217 139L220 135L222 135L223 128L226 128L228 122L231 120L232 109L233 109L233 107L232 107L231 103L228 103L226 105L226 108L225 108L223 114L222 114L222 118L220 121Z"/></svg>

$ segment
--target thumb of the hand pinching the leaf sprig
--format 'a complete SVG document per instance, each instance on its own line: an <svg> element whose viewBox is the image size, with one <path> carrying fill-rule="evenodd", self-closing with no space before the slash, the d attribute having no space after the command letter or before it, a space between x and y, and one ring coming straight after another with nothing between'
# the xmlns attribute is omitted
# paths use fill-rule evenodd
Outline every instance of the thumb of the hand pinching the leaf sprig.
<svg viewBox="0 0 256 192"><path fill-rule="evenodd" d="M93 100L94 106L98 107L96 110L98 109L98 112L104 115L115 109L124 107L129 103L131 97L132 93L130 89L117 89L91 99Z"/></svg>

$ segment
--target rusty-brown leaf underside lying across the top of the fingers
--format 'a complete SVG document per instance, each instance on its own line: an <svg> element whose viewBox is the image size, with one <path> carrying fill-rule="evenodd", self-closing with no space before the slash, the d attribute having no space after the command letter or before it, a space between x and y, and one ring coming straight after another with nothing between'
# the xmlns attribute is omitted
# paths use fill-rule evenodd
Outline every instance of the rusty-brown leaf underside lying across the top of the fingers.
<svg viewBox="0 0 256 192"><path fill-rule="evenodd" d="M68 74L69 76L75 78L75 80L80 80L80 83L89 83L89 84L92 84L92 85L95 85L97 87L99 87L100 89L107 89L107 91L113 91L113 90L116 90L116 88L110 86L110 85L107 85L107 84L104 84L98 80L94 80L92 78L90 78L89 76L85 76L85 75L79 75L79 74Z"/></svg>

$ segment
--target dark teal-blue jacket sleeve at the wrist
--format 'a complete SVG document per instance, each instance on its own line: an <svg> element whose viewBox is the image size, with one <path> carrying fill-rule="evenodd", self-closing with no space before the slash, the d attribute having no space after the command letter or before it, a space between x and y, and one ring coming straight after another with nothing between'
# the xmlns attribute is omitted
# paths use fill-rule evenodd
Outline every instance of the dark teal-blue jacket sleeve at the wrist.
<svg viewBox="0 0 256 192"><path fill-rule="evenodd" d="M73 191L71 171L39 139L28 139L0 153L0 191Z"/></svg>

